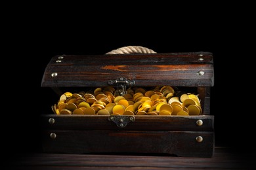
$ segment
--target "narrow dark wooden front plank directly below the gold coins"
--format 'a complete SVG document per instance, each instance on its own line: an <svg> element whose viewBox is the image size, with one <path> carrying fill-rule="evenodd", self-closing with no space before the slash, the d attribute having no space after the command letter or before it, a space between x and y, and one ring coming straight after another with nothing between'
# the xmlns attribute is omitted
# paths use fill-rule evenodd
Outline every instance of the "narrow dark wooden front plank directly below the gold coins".
<svg viewBox="0 0 256 170"><path fill-rule="evenodd" d="M54 123L49 123L53 119ZM196 123L202 120L202 126ZM51 121L50 121L51 122ZM214 131L214 116L135 116L135 122L120 128L104 115L41 115L43 129L111 129L111 130L173 130L173 131Z"/></svg>

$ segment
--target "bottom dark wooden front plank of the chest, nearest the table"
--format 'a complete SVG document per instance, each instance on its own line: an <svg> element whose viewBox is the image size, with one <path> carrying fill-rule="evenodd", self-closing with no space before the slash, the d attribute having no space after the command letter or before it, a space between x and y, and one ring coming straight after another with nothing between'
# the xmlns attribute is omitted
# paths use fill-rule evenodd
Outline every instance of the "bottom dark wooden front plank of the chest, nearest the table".
<svg viewBox="0 0 256 170"><path fill-rule="evenodd" d="M55 138L51 138L51 134ZM201 136L202 142L196 138ZM47 153L137 153L211 157L214 133L205 131L49 130L43 133Z"/></svg>

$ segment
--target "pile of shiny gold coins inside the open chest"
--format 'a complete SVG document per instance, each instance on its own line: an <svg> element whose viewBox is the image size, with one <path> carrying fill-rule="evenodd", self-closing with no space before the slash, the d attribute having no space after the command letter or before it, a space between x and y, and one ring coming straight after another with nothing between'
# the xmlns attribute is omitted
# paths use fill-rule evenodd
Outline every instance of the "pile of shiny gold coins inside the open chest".
<svg viewBox="0 0 256 170"><path fill-rule="evenodd" d="M91 115L172 115L202 114L200 99L193 93L175 92L171 86L146 90L135 87L125 95L115 95L113 87L95 88L94 92L66 92L52 106L54 114Z"/></svg>

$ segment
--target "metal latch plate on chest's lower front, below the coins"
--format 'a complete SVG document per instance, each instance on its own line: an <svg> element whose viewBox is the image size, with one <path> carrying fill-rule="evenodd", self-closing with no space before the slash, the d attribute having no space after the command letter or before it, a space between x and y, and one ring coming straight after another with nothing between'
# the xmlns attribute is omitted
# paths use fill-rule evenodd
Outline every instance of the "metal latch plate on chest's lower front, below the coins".
<svg viewBox="0 0 256 170"><path fill-rule="evenodd" d="M116 123L118 127L125 127L129 122L135 122L135 116L111 115L108 120Z"/></svg>

